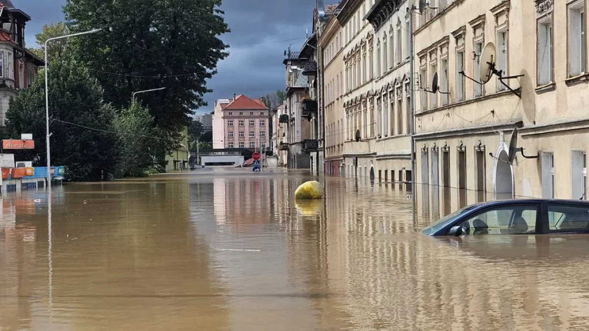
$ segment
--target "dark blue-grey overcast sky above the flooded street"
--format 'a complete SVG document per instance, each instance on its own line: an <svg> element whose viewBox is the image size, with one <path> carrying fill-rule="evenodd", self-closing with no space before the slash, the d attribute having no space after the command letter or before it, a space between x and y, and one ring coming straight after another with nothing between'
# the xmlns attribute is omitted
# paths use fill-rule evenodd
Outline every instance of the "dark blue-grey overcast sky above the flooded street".
<svg viewBox="0 0 589 331"><path fill-rule="evenodd" d="M337 3L337 0L326 1ZM12 0L29 16L27 43L35 43L35 34L44 24L61 21L65 0ZM214 91L205 96L209 107L213 101L231 98L233 93L259 98L285 88L284 50L293 44L297 51L305 40L306 28L312 26L316 0L223 0L231 33L222 39L229 44L230 56L219 63L219 74L209 82Z"/></svg>

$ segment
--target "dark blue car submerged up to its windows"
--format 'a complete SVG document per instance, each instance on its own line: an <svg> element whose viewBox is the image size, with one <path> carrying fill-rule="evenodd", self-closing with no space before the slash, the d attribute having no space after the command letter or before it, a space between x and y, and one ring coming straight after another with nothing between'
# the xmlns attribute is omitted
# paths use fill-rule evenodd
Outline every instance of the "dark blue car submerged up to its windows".
<svg viewBox="0 0 589 331"><path fill-rule="evenodd" d="M428 236L589 233L589 201L489 201L455 211L422 231Z"/></svg>

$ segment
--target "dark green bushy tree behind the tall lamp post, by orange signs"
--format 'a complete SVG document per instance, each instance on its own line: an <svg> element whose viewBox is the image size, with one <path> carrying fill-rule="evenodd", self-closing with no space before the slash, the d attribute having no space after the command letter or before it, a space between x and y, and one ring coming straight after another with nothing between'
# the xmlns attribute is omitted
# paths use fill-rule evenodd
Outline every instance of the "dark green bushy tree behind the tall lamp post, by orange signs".
<svg viewBox="0 0 589 331"><path fill-rule="evenodd" d="M114 110L104 104L103 91L75 61L55 61L49 70L51 163L67 166L68 180L100 180L114 174L117 137L112 130ZM5 135L32 133L34 151L21 151L19 160L47 163L45 155L45 82L41 73L32 87L21 91L6 112Z"/></svg>

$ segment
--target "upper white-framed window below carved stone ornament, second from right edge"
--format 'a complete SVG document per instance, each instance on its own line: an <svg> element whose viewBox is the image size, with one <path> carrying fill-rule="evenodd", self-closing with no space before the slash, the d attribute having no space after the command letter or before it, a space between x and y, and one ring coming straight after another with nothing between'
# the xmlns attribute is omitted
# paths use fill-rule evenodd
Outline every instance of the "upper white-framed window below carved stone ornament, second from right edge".
<svg viewBox="0 0 589 331"><path fill-rule="evenodd" d="M552 15L538 19L538 85L552 82Z"/></svg>

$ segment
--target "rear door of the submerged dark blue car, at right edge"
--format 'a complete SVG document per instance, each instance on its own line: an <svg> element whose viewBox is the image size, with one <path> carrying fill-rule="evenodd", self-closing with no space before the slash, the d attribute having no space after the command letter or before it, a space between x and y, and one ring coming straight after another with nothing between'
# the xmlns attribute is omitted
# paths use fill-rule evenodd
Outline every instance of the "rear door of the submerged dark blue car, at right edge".
<svg viewBox="0 0 589 331"><path fill-rule="evenodd" d="M585 204L542 204L542 233L589 233L589 206Z"/></svg>

